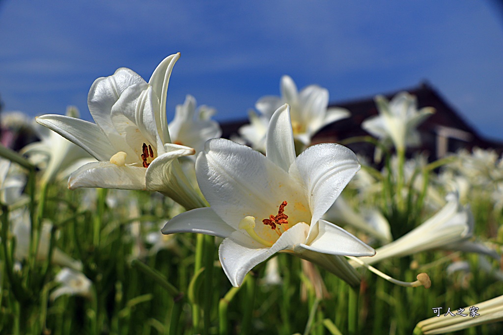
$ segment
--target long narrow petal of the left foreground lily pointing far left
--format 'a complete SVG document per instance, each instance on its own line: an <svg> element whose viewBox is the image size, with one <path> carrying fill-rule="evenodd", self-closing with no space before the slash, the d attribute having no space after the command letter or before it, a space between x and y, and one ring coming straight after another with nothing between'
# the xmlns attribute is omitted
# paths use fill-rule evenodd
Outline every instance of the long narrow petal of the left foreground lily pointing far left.
<svg viewBox="0 0 503 335"><path fill-rule="evenodd" d="M36 121L75 143L99 161L108 161L117 153L96 124L62 115L48 114Z"/></svg>

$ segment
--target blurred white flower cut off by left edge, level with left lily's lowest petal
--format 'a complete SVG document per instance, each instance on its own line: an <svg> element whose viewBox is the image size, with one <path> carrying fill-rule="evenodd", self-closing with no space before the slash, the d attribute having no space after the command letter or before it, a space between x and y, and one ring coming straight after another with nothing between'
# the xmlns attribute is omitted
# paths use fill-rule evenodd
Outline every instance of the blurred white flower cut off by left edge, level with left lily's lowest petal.
<svg viewBox="0 0 503 335"><path fill-rule="evenodd" d="M17 164L0 157L0 202L12 205L22 198L26 174Z"/></svg>

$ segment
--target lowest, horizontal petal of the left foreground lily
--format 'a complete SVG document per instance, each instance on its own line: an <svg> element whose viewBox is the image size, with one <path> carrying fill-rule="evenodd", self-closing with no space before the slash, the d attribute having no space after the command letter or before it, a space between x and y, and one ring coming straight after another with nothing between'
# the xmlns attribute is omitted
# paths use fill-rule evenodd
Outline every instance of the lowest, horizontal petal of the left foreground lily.
<svg viewBox="0 0 503 335"><path fill-rule="evenodd" d="M68 188L101 187L144 190L146 170L144 167L117 166L110 162L88 163L71 174L68 179Z"/></svg>

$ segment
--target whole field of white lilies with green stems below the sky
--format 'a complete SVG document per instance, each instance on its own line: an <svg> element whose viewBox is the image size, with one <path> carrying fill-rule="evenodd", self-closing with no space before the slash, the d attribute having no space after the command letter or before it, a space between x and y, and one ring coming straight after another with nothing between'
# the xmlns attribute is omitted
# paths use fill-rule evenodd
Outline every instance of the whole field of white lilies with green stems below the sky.
<svg viewBox="0 0 503 335"><path fill-rule="evenodd" d="M495 152L406 155L435 113L406 92L342 143L374 157L310 145L351 110L289 76L222 139L191 95L167 121L179 58L96 79L95 123L2 116L40 141L0 147L0 333L503 331Z"/></svg>

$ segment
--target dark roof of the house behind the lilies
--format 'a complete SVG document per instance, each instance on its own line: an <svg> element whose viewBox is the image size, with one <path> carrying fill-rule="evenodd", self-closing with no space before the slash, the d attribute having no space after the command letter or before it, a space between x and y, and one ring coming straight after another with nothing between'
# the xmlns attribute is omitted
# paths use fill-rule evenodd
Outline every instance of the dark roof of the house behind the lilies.
<svg viewBox="0 0 503 335"><path fill-rule="evenodd" d="M479 147L483 149L495 149L498 153L503 152L503 142L488 140L481 135L456 112L456 110L434 89L430 84L423 82L416 87L410 89L401 89L394 92L383 94L388 100L401 91L407 91L417 97L417 107L434 107L436 113L430 116L423 124L418 127L421 134L421 148L411 150L420 150L427 152L431 159L437 158L438 154L438 137L439 134L444 134L446 130L450 133L461 134L460 138L449 139L448 152L455 152L460 148L472 149ZM351 117L348 119L334 122L322 128L312 139L312 143L322 142L341 142L342 140L355 137L367 136L366 131L361 128L364 120L371 116L377 115L378 110L374 103L374 96L355 99L350 101L341 101L330 103L329 106L338 106L348 109L351 112ZM232 121L222 123L222 137L229 138L232 134L237 134L240 126L247 124L247 120ZM462 139L461 139L462 138ZM374 150L373 145L369 143L352 143L348 144L353 151L367 154L371 156Z"/></svg>

